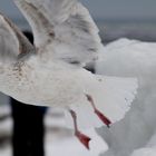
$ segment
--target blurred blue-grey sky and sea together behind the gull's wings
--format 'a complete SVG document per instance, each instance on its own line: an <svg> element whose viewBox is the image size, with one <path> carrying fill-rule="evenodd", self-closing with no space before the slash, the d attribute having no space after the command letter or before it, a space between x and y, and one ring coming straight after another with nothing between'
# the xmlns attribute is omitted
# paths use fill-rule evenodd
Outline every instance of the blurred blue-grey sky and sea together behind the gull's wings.
<svg viewBox="0 0 156 156"><path fill-rule="evenodd" d="M156 40L155 0L81 0L97 22L104 42L119 37ZM0 10L22 30L30 30L13 0L0 2Z"/></svg>

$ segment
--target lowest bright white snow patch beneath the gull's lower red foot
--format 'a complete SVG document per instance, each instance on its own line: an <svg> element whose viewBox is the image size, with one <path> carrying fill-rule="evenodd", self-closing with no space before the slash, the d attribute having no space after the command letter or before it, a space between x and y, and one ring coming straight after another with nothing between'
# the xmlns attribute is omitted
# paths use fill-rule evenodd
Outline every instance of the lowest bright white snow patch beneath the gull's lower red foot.
<svg viewBox="0 0 156 156"><path fill-rule="evenodd" d="M48 140L46 145L47 156L98 156L100 153L108 149L107 144L96 134L94 129L86 131L86 134L94 138L90 142L90 150L87 150L76 137L70 136L66 139L55 140L53 143L51 142L51 144L50 140ZM47 137L49 137L49 135Z"/></svg>

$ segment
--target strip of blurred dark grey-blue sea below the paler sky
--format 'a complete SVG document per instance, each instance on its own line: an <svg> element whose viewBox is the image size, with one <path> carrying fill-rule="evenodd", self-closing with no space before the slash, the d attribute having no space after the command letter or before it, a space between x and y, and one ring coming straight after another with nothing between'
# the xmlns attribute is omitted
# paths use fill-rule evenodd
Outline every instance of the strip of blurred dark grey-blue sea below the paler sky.
<svg viewBox="0 0 156 156"><path fill-rule="evenodd" d="M13 20L22 30L30 30L28 23L21 19ZM95 19L104 43L118 38L156 41L156 19L146 20L104 20Z"/></svg>

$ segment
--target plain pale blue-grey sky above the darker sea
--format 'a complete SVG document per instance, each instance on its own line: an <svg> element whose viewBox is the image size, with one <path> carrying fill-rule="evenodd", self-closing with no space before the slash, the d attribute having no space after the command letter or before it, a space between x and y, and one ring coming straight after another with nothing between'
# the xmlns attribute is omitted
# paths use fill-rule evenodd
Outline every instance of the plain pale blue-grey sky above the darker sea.
<svg viewBox="0 0 156 156"><path fill-rule="evenodd" d="M13 0L1 0L0 11L21 19ZM95 19L155 19L156 0L81 0Z"/></svg>

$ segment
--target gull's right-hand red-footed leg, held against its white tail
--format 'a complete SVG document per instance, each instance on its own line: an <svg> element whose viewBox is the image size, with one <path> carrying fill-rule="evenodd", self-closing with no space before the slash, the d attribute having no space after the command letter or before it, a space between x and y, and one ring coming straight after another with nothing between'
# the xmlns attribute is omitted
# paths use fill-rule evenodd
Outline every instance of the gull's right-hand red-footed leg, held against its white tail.
<svg viewBox="0 0 156 156"><path fill-rule="evenodd" d="M107 125L107 127L109 128L111 121L110 121L103 113L100 113L100 111L96 108L96 105L95 105L94 99L92 99L91 96L86 95L86 97L87 97L88 101L91 104L91 106L92 106L92 108L94 108L94 110L95 110L95 114L96 114L96 115L99 117L99 119L100 119L105 125Z"/></svg>

